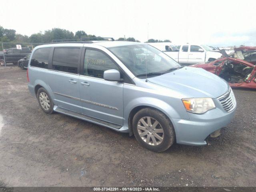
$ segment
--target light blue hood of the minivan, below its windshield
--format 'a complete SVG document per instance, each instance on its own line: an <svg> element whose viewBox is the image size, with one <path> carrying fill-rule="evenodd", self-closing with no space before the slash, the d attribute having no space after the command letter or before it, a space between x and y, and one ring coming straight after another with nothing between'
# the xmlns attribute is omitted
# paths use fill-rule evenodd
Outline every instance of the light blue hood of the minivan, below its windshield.
<svg viewBox="0 0 256 192"><path fill-rule="evenodd" d="M217 98L228 91L222 78L202 68L183 67L160 76L148 78L149 82L180 92L184 98Z"/></svg>

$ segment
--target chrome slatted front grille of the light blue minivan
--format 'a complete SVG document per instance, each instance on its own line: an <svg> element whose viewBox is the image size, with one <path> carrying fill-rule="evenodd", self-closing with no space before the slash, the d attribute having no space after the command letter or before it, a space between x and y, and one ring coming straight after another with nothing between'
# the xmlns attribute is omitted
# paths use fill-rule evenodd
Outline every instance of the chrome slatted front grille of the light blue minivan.
<svg viewBox="0 0 256 192"><path fill-rule="evenodd" d="M230 112L236 108L236 98L231 88L229 88L228 92L218 98L223 108Z"/></svg>

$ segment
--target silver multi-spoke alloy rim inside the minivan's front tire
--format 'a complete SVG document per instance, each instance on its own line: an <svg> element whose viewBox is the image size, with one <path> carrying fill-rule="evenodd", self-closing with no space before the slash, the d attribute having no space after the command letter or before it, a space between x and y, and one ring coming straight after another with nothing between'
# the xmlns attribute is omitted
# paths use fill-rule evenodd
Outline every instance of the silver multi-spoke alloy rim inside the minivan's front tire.
<svg viewBox="0 0 256 192"><path fill-rule="evenodd" d="M152 117L142 117L138 121L137 130L140 138L149 145L157 146L164 140L162 126Z"/></svg>

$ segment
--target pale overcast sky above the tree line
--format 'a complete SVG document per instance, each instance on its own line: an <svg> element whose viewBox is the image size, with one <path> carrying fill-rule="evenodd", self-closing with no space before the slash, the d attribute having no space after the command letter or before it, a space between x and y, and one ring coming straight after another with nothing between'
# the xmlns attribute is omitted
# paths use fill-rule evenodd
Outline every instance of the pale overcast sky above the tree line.
<svg viewBox="0 0 256 192"><path fill-rule="evenodd" d="M0 25L30 36L51 28L97 36L256 46L255 0L4 0Z"/></svg>

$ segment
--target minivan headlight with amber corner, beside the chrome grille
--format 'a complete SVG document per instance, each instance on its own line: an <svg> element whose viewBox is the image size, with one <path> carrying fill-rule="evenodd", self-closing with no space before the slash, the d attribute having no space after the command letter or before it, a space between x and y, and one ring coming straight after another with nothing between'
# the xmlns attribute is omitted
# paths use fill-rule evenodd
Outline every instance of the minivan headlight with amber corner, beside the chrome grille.
<svg viewBox="0 0 256 192"><path fill-rule="evenodd" d="M191 113L202 114L215 108L212 98L182 99L182 102L186 110Z"/></svg>

